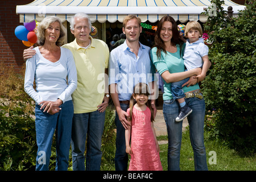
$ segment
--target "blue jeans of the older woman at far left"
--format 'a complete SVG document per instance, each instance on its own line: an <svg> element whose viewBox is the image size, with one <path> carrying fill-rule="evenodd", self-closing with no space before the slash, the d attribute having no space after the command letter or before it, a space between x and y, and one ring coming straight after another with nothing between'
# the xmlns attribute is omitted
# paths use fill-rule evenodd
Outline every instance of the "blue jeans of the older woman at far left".
<svg viewBox="0 0 256 182"><path fill-rule="evenodd" d="M35 107L36 171L47 171L51 156L52 137L56 130L56 171L67 171L69 148L71 143L71 127L73 118L73 102L67 101L60 105L56 114L43 113L40 106Z"/></svg>

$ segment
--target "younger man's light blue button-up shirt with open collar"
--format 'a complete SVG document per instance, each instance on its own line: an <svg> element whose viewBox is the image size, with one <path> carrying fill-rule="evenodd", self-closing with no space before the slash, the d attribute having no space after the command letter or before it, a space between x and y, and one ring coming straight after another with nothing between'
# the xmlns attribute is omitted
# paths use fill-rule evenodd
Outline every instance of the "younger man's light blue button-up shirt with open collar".
<svg viewBox="0 0 256 182"><path fill-rule="evenodd" d="M109 56L109 85L117 84L119 101L130 100L138 82L156 80L155 67L150 61L150 47L139 43L138 56L130 51L126 41L113 49Z"/></svg>

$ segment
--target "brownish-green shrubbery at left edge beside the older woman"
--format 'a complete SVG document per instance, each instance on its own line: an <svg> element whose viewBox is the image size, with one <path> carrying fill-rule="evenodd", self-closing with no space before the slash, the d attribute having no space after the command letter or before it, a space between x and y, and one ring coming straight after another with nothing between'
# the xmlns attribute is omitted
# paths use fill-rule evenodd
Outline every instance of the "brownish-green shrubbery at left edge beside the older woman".
<svg viewBox="0 0 256 182"><path fill-rule="evenodd" d="M24 170L35 165L36 142L32 100L23 90L22 73L1 65L0 169Z"/></svg>

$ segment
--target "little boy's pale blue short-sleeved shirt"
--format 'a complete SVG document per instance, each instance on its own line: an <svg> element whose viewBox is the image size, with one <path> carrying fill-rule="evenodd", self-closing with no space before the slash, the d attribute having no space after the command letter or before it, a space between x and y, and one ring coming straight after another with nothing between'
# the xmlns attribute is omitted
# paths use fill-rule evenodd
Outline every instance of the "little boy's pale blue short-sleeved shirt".
<svg viewBox="0 0 256 182"><path fill-rule="evenodd" d="M203 38L199 38L194 43L190 43L188 39L183 56L185 67L188 70L203 67L202 57L208 55L208 52L209 48L204 44Z"/></svg>

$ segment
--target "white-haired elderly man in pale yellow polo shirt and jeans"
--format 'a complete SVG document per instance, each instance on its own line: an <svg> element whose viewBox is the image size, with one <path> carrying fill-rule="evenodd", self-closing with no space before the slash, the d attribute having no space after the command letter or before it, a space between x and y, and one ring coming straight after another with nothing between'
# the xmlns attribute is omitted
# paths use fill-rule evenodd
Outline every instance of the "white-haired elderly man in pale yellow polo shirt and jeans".
<svg viewBox="0 0 256 182"><path fill-rule="evenodd" d="M77 89L72 94L74 116L72 122L72 160L73 170L98 171L101 165L101 137L105 124L105 109L108 106L109 48L105 42L93 39L89 34L89 16L77 13L72 16L71 33L75 40L65 44L73 53L77 69ZM24 59L34 50L24 50ZM102 86L104 85L104 86ZM106 94L105 94L106 93Z"/></svg>

